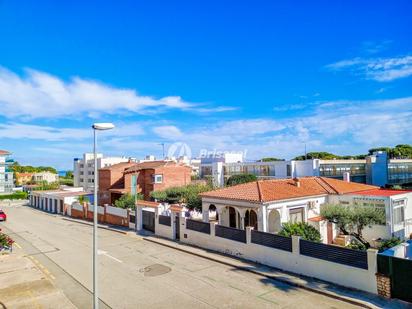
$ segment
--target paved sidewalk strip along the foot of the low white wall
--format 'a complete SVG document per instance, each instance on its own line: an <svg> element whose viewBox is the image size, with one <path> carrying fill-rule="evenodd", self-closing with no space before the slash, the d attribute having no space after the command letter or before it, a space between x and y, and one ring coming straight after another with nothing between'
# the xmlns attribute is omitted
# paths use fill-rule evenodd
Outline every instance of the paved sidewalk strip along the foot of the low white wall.
<svg viewBox="0 0 412 309"><path fill-rule="evenodd" d="M385 299L383 297L337 286L325 281L317 280L314 278L299 276L296 274L281 271L275 268L271 268L265 265L256 264L246 260L237 259L235 257L229 257L227 255L205 250L198 247L182 244L179 242L171 241L156 236L142 236L144 240L154 242L163 246L167 246L179 251L183 251L189 254L193 254L208 260L212 260L218 263L229 265L237 269L244 271L250 271L252 273L281 281L292 286L296 286L314 293L329 296L335 299L358 305L364 308L411 308L411 305L399 301L396 299Z"/></svg>

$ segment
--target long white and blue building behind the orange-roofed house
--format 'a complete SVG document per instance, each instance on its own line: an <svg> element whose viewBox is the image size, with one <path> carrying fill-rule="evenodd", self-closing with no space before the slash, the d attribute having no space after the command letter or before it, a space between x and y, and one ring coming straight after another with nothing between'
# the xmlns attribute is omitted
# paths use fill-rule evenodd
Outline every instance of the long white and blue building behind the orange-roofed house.
<svg viewBox="0 0 412 309"><path fill-rule="evenodd" d="M272 162L226 162L202 160L200 177L212 179L223 186L237 174L253 174L260 179L321 176L344 179L377 186L401 185L412 182L412 160L389 159L385 152L377 152L363 160L285 160Z"/></svg>

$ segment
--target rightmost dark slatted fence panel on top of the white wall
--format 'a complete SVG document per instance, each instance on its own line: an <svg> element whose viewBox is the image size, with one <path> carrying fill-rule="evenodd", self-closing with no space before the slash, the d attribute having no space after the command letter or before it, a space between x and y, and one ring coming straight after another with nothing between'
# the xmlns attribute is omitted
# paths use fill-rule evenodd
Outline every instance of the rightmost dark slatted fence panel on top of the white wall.
<svg viewBox="0 0 412 309"><path fill-rule="evenodd" d="M366 251L331 246L313 241L300 240L300 254L313 258L368 269Z"/></svg>

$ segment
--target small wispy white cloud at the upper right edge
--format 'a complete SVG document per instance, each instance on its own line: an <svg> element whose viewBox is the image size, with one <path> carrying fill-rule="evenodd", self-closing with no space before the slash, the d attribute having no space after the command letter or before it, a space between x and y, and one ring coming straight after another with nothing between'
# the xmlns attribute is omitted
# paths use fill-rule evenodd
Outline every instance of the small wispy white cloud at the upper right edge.
<svg viewBox="0 0 412 309"><path fill-rule="evenodd" d="M354 58L326 66L330 70L349 70L367 79L389 82L412 75L412 56L395 58Z"/></svg>

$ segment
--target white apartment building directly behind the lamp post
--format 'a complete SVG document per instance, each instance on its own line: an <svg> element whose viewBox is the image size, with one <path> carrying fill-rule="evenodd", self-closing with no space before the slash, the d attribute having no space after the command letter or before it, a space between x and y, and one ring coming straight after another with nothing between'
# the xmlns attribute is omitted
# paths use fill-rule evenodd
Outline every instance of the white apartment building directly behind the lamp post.
<svg viewBox="0 0 412 309"><path fill-rule="evenodd" d="M97 169L109 167L113 164L128 162L127 157L103 157L97 154ZM84 153L83 158L75 158L73 162L73 181L75 187L83 187L85 191L91 192L94 189L94 155Z"/></svg>

